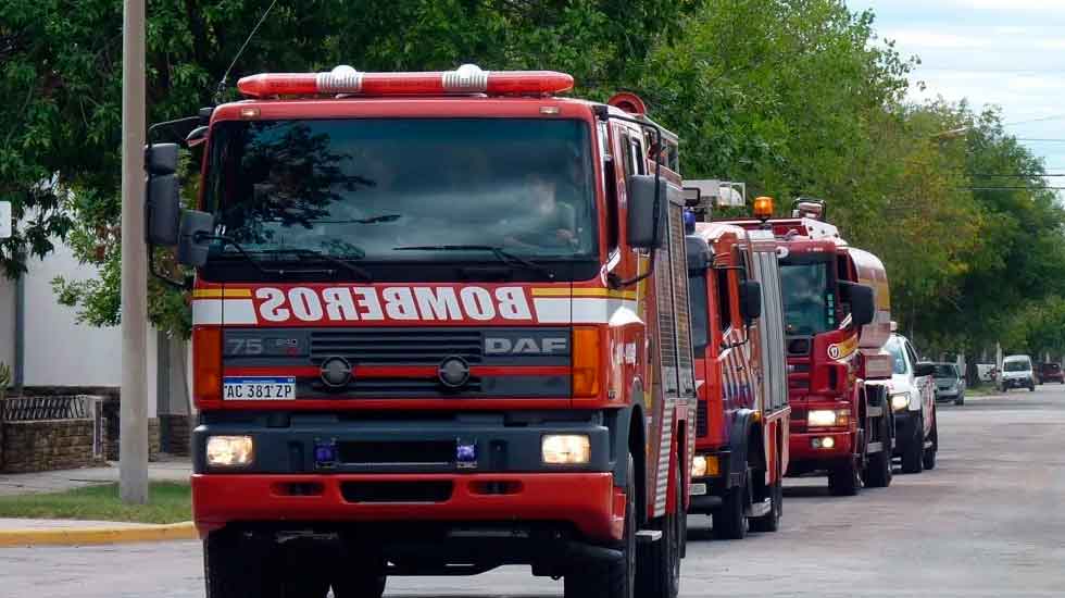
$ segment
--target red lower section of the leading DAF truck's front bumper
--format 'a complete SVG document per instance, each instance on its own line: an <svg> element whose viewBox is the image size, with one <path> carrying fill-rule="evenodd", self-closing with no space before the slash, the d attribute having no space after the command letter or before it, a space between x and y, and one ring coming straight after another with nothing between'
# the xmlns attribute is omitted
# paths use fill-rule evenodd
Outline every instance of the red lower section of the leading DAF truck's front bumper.
<svg viewBox="0 0 1065 598"><path fill-rule="evenodd" d="M356 502L352 484L443 484L437 502ZM293 495L293 490L303 495ZM578 491L579 489L579 491ZM508 494L497 494L500 490ZM346 498L347 495L347 498ZM201 534L254 522L565 522L586 539L621 539L625 495L610 473L243 475L193 474L192 512Z"/></svg>

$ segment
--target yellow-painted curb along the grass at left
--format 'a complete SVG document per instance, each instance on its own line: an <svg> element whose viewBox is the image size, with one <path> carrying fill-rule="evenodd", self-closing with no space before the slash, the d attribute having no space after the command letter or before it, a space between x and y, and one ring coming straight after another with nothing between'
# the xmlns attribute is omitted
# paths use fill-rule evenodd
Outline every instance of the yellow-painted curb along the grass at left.
<svg viewBox="0 0 1065 598"><path fill-rule="evenodd" d="M137 527L70 527L57 530L3 530L0 547L84 546L136 541L172 541L199 539L192 522Z"/></svg>

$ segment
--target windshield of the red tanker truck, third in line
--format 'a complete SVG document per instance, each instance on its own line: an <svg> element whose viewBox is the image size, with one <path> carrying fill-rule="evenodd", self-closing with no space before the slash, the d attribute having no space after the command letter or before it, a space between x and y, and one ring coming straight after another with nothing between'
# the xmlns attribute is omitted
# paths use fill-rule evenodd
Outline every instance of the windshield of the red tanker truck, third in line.
<svg viewBox="0 0 1065 598"><path fill-rule="evenodd" d="M827 262L781 263L785 322L789 335L815 335L836 327L836 295Z"/></svg>

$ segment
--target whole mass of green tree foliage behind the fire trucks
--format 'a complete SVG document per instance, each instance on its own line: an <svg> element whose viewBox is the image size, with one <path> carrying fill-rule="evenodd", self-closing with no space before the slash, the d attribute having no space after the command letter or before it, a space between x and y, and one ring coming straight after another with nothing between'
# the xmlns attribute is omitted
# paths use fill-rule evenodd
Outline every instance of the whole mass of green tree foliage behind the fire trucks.
<svg viewBox="0 0 1065 598"><path fill-rule="evenodd" d="M100 270L57 279L61 302L96 325L120 319L121 5L0 5L0 194L42 216L0 246L17 272L55 235ZM264 3L160 0L149 7L149 121L212 102ZM872 12L842 0L401 0L278 3L230 84L265 71L554 68L576 95L631 89L682 140L690 178L742 180L787 207L829 201L829 220L885 260L894 317L928 351L995 339L1032 351L1065 339L1065 212L1042 166L997 111L911 105L916 59L877 37ZM222 98L235 99L231 87ZM969 127L961 134L944 134ZM197 158L197 157L193 157ZM197 196L197 163L184 173ZM1002 179L987 173L1019 175ZM43 183L43 182L47 182ZM1015 190L983 187L1017 186ZM65 207L66 211L60 211ZM37 212L34 212L37 213ZM73 228L72 228L73 226ZM21 240L20 240L21 239ZM160 252L159 269L187 273ZM188 334L184 296L158 282L152 321Z"/></svg>

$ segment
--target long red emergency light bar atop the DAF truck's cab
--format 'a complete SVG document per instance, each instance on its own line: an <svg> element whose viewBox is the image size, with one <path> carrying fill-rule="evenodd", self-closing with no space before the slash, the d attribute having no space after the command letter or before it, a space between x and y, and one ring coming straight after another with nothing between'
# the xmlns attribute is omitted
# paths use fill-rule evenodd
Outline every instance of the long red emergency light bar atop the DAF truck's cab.
<svg viewBox="0 0 1065 598"><path fill-rule="evenodd" d="M429 73L360 73L341 65L327 73L263 73L241 77L237 88L249 98L358 94L361 96L442 96L450 94L547 96L573 89L573 77L554 71L481 71L464 64Z"/></svg>

